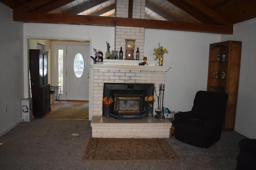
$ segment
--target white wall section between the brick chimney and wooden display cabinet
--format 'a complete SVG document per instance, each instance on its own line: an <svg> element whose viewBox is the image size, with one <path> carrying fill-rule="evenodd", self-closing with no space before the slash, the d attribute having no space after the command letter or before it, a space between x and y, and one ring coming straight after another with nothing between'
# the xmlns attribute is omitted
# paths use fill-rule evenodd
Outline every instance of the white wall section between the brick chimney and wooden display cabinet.
<svg viewBox="0 0 256 170"><path fill-rule="evenodd" d="M171 66L166 73L164 107L171 111L190 111L198 90L206 90L209 45L220 41L219 34L145 30L144 56L154 60L158 42L168 50L164 66Z"/></svg>

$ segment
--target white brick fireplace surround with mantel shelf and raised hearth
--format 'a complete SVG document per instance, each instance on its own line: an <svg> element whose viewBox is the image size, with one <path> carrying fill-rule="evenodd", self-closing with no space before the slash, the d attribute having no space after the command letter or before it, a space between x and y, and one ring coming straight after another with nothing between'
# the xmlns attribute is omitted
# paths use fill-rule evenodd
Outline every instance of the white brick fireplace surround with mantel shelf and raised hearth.
<svg viewBox="0 0 256 170"><path fill-rule="evenodd" d="M102 116L104 82L150 83L158 92L159 85L165 82L165 73L170 66L158 66L157 62L148 62L148 66L139 66L142 61L104 60L103 64L90 64L92 77L92 137L112 138L162 138L169 137L172 123L166 119L144 117L142 119L115 119ZM157 102L157 101L156 101ZM154 110L157 109L154 104ZM156 113L154 113L156 114Z"/></svg>

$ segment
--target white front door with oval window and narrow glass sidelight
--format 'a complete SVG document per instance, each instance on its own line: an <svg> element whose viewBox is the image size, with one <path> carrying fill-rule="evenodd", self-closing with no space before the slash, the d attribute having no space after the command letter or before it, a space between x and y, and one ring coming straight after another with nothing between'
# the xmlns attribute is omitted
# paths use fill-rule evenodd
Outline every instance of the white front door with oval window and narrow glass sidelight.
<svg viewBox="0 0 256 170"><path fill-rule="evenodd" d="M55 45L59 100L89 100L89 51L89 45Z"/></svg>

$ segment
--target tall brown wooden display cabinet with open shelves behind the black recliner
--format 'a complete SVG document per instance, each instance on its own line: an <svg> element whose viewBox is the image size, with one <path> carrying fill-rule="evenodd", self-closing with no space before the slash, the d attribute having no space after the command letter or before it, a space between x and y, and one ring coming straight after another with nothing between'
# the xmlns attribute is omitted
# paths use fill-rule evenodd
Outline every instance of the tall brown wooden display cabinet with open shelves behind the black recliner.
<svg viewBox="0 0 256 170"><path fill-rule="evenodd" d="M241 41L210 44L207 91L228 94L224 130L234 130L241 59ZM218 60L220 55L220 60ZM224 56L223 56L224 55ZM225 58L226 59L222 59ZM218 75L214 72L218 71ZM221 75L222 72L225 74Z"/></svg>

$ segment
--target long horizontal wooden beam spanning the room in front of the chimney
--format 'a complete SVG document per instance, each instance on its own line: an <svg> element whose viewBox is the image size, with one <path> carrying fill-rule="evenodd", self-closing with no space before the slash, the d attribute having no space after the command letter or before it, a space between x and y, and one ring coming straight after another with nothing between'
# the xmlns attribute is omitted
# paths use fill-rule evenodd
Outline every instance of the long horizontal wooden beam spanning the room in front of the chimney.
<svg viewBox="0 0 256 170"><path fill-rule="evenodd" d="M107 25L124 27L144 27L154 29L170 29L180 31L196 31L207 33L232 34L233 27L202 23L186 23L176 21L146 20L120 17L82 16L73 14L46 14L13 11L14 21L39 23L66 23L79 25Z"/></svg>

